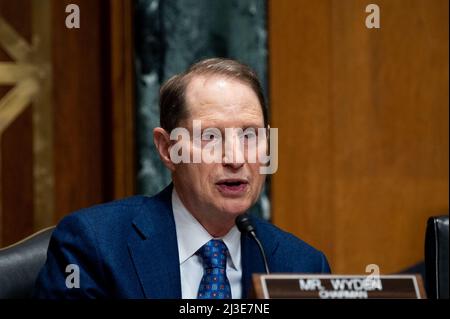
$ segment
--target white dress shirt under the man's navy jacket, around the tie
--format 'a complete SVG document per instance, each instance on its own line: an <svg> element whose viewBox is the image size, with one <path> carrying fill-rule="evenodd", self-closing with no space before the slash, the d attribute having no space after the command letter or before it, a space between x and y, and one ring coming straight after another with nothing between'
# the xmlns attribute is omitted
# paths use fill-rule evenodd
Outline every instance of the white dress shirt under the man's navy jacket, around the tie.
<svg viewBox="0 0 450 319"><path fill-rule="evenodd" d="M180 256L181 296L196 299L203 277L203 264L195 253L211 239L222 239L228 248L227 277L231 286L231 297L242 296L241 233L234 226L222 238L212 237L192 216L180 200L175 188L172 191L172 209L177 231L178 254Z"/></svg>

